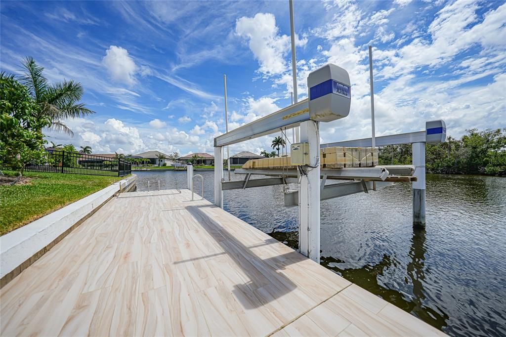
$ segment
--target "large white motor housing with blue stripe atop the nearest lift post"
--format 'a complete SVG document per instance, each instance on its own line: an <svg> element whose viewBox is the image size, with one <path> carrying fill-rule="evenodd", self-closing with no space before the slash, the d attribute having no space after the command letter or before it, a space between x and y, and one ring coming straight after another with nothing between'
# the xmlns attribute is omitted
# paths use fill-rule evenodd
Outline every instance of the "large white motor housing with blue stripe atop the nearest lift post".
<svg viewBox="0 0 506 337"><path fill-rule="evenodd" d="M348 116L351 83L348 72L327 64L308 76L309 116L312 120L332 121Z"/></svg>

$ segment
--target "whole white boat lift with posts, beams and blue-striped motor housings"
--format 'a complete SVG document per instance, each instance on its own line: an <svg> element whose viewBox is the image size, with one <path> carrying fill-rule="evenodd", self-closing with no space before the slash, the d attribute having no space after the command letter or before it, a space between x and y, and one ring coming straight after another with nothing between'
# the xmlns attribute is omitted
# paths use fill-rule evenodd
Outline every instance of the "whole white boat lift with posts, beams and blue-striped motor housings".
<svg viewBox="0 0 506 337"><path fill-rule="evenodd" d="M215 165L215 204L223 208L223 190L297 182L299 190L286 192L285 204L299 205L299 251L318 263L320 200L358 192L367 193L369 190L385 187L396 181L412 182L413 215L416 213L416 219L420 221L423 219L425 225L425 143L444 142L446 138L444 121L427 122L426 131L418 133L376 137L376 146L413 143L413 165L322 169L319 123L348 116L351 102L350 77L343 68L328 64L311 72L307 81L308 99L245 124L214 140L215 163L220 163L223 161L224 146L300 127L300 142L308 143L309 146L307 164L298 166L298 170L236 170L235 173L246 176L244 181L233 182L225 182L222 165ZM321 147L328 146L371 146L371 139L321 145ZM191 169L188 171L189 177L191 171ZM252 174L272 178L250 180ZM352 181L325 185L327 179ZM189 189L191 185L191 179L188 178Z"/></svg>

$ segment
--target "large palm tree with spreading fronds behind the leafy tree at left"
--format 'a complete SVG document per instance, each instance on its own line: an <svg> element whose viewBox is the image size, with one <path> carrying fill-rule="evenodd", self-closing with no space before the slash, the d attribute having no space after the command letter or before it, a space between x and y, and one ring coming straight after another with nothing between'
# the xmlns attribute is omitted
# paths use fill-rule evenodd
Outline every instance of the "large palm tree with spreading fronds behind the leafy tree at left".
<svg viewBox="0 0 506 337"><path fill-rule="evenodd" d="M25 70L20 82L26 87L28 93L38 105L37 120L48 116L49 125L37 125L40 131L49 126L57 131L73 136L72 130L63 122L66 118L76 118L95 113L78 103L81 100L83 89L81 83L73 80L64 80L50 85L43 75L44 67L38 66L32 57L22 61Z"/></svg>

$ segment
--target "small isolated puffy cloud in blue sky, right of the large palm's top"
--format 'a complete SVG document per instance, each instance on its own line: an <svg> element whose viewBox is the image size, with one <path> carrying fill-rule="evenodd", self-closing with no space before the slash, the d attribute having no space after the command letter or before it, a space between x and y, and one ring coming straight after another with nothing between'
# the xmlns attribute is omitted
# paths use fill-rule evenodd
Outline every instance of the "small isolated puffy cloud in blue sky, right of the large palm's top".
<svg viewBox="0 0 506 337"><path fill-rule="evenodd" d="M137 71L137 66L126 49L110 46L105 51L102 64L107 68L113 80L123 82L128 86L132 86L136 82L134 74Z"/></svg>

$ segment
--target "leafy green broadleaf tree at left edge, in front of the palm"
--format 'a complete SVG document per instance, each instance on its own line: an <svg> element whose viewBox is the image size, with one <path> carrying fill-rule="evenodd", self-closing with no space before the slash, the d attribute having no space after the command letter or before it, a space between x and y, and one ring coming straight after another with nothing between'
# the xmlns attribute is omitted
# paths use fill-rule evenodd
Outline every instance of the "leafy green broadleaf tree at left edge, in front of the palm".
<svg viewBox="0 0 506 337"><path fill-rule="evenodd" d="M0 73L0 162L18 171L19 177L28 162L46 155L38 122L48 123L49 119L37 120L37 110L26 88L14 76Z"/></svg>

